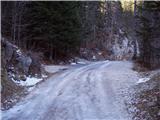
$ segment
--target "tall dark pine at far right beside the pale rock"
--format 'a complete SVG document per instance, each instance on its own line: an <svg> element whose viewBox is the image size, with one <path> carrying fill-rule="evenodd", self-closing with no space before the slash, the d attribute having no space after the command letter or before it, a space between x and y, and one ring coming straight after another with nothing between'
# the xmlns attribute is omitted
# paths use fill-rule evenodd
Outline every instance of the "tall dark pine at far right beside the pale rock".
<svg viewBox="0 0 160 120"><path fill-rule="evenodd" d="M149 68L160 66L160 2L144 1L139 6L139 27L137 35L140 39L140 60Z"/></svg>

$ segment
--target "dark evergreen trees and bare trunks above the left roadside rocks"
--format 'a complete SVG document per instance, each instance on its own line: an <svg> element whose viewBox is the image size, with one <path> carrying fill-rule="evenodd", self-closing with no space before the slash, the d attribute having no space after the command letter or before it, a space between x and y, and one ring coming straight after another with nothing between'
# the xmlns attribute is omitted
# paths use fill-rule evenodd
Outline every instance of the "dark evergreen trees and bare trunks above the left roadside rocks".
<svg viewBox="0 0 160 120"><path fill-rule="evenodd" d="M22 15L18 14L19 3L3 2L2 4L3 36L13 36L12 41L14 42L13 38L15 38L18 46L28 50L43 51L51 60L59 59L58 57L63 59L79 51L81 30L79 2L23 2L26 5ZM11 9L8 10L7 6L11 6ZM20 17L22 17L21 24L18 21ZM7 23L9 24L6 25ZM22 45L19 45L17 41L17 26L21 26ZM14 30L11 30L12 28ZM12 33L8 35L10 31L15 35Z"/></svg>

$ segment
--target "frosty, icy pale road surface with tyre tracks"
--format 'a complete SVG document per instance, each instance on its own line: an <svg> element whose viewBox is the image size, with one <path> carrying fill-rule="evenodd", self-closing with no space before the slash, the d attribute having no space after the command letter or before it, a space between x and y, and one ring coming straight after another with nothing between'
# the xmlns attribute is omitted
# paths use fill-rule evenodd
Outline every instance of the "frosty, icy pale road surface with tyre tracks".
<svg viewBox="0 0 160 120"><path fill-rule="evenodd" d="M21 102L3 111L2 118L131 120L124 102L128 88L137 80L130 62L101 61L75 67L39 84Z"/></svg>

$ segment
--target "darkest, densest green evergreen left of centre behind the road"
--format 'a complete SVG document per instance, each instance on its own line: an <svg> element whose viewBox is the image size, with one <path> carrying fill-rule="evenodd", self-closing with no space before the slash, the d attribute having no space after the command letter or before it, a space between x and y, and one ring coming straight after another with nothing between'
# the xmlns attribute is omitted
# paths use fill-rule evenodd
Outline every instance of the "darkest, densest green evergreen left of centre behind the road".
<svg viewBox="0 0 160 120"><path fill-rule="evenodd" d="M76 52L80 45L78 2L33 2L28 34L34 42L44 43L50 54ZM52 53L51 51L54 51ZM51 56L52 56L51 55Z"/></svg>

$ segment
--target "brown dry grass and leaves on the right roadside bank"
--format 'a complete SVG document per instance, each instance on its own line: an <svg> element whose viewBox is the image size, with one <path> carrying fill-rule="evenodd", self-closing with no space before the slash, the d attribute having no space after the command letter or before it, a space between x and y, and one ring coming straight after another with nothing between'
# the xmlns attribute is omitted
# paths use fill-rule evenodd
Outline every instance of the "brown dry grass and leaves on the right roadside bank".
<svg viewBox="0 0 160 120"><path fill-rule="evenodd" d="M132 104L137 109L133 112L133 120L160 120L160 74L137 87L142 86L145 89L136 94Z"/></svg>

